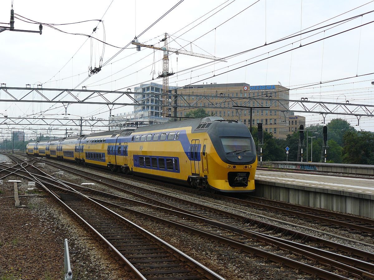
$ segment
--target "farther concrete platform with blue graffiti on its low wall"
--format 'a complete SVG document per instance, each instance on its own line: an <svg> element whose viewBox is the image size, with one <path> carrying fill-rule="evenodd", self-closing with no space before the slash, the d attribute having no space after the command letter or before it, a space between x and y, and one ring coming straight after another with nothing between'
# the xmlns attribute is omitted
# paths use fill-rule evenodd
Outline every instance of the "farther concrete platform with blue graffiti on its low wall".
<svg viewBox="0 0 374 280"><path fill-rule="evenodd" d="M330 163L320 163L320 162L293 162L293 161L272 161L271 164L273 168L341 172L344 174L374 175L374 165L330 164Z"/></svg>

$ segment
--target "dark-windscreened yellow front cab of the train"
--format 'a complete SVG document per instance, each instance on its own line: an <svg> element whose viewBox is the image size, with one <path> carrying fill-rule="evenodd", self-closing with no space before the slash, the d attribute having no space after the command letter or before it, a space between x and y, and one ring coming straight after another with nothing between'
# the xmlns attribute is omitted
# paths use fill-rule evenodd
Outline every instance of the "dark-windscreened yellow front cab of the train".
<svg viewBox="0 0 374 280"><path fill-rule="evenodd" d="M213 121L207 134L209 140L202 140L201 161L199 154L191 157L192 171L194 165L199 166L200 177L206 178L213 191L254 192L257 156L248 128L240 122Z"/></svg>

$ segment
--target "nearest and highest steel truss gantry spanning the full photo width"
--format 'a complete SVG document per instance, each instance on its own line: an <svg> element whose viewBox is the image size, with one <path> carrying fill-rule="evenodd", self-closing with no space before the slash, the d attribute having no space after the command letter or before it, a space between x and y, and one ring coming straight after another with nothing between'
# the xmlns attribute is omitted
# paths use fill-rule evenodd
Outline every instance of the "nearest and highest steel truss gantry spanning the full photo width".
<svg viewBox="0 0 374 280"><path fill-rule="evenodd" d="M14 94L12 91L18 91L20 94ZM5 92L10 99L4 99L1 93ZM78 92L78 94L73 94ZM13 94L12 94L13 93ZM39 99L36 96L39 96ZM0 87L0 102L35 102L35 103L60 103L65 107L65 113L68 105L71 104L98 104L107 105L110 110L114 105L130 105L141 106L147 105L147 100L153 97L160 98L164 94L150 94L149 97L142 99L141 103L132 96L135 93L132 91L105 91L105 90L78 90L78 89L59 89L59 88L29 88L29 87ZM18 96L19 95L19 96ZM22 95L22 96L21 96ZM255 106L261 106L263 101L266 106L275 111L292 111L298 113L314 113L321 114L325 119L326 115L352 115L359 119L362 116L373 117L374 105L356 104L356 103L336 103L336 102L323 102L323 101L307 101L307 100L288 100L276 98L259 98L259 97L232 97L232 96L210 96L210 95L197 95L197 94L166 94L171 95L168 106L178 108L180 110L186 109L222 109L232 108L236 106L251 107L253 102ZM18 96L18 97L16 97ZM121 102L122 97L129 97L132 103ZM190 100L194 97L194 100ZM240 104L242 101L242 104ZM206 106L199 106L200 102L205 102ZM182 103L183 105L180 105ZM186 105L184 105L186 103ZM217 104L216 104L217 103ZM273 106L275 105L276 106ZM112 107L110 107L112 106ZM274 107L274 109L272 108ZM277 108L277 109L276 109ZM233 109L233 108L232 108ZM236 110L239 110L236 108Z"/></svg>

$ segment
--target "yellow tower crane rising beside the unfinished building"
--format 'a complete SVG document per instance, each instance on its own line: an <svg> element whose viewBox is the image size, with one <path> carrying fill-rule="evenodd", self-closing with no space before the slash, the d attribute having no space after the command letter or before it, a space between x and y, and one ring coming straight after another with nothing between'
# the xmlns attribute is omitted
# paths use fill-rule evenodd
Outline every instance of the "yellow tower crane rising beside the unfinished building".
<svg viewBox="0 0 374 280"><path fill-rule="evenodd" d="M202 55L200 53L193 53L188 52L186 50L177 50L172 49L168 47L168 34L165 33L165 37L161 40L161 42L164 42L163 47L155 47L152 45L146 45L139 43L138 40L132 41L133 45L138 46L137 50L140 50L140 47L146 47L150 49L155 50L162 50L163 51L163 58L162 58L162 73L157 78L162 78L162 116L168 117L171 113L171 108L168 107L169 103L169 76L174 75L174 73L169 73L169 53L175 53L176 55L182 54L182 55L190 55L190 56L197 56L197 57L203 57L207 59L212 60L219 60L219 61L225 61L222 58L210 56L210 55Z"/></svg>

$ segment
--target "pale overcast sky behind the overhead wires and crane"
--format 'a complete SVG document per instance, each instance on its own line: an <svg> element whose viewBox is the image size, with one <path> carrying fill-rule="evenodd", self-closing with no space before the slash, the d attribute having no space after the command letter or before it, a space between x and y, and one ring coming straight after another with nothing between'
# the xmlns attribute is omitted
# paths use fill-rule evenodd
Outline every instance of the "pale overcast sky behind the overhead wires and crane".
<svg viewBox="0 0 374 280"><path fill-rule="evenodd" d="M101 19L105 10L108 9L102 18L105 27L105 41L117 47L124 47L177 2L168 0L113 0L113 2L111 0L41 0L37 2L14 0L13 9L15 13L25 18L53 24ZM259 0L257 2L255 0L184 0L154 27L142 34L138 40L157 46L163 34L167 32L172 35L169 47L179 49L183 46L189 51L217 57L226 57L262 46L251 52L227 59L227 62L210 63L205 67L195 68L193 71L182 70L211 60L173 54L170 56L169 71L182 72L169 78L170 85L183 86L206 79L200 83L245 82L251 85L271 85L280 82L283 86L295 88L301 84L319 83L320 81L374 72L374 23L298 48L292 52L253 63L228 74L219 74L300 46L300 36L276 44L269 44L291 34L297 34L300 29L316 24L318 24L316 27L321 27L374 10L374 1L366 3L368 0ZM11 0L1 1L0 22L9 22L10 7ZM359 8L355 9L357 7ZM220 9L222 10L218 12ZM242 10L244 11L241 12ZM236 15L239 12L241 13ZM208 14L205 15L206 13ZM338 16L342 13L344 15ZM201 16L203 17L197 20ZM211 17L199 24L208 16ZM338 17L326 21L335 16ZM329 28L325 32L320 31L327 28L310 32L302 35L301 45L373 20L374 13L369 13L344 24L333 25L333 28ZM323 23L321 24L321 22ZM96 25L98 25L97 21L91 21L56 27L71 33L91 34ZM195 25L197 26L194 27ZM15 28L38 30L39 26L15 19ZM191 30L188 31L188 29ZM93 36L104 40L103 31L102 24L99 24ZM204 35L205 33L207 34ZM312 34L315 35L309 37ZM65 34L46 26L43 27L42 35L4 31L0 33L0 40L0 63L2 66L0 83L6 83L9 87L24 87L25 84L42 83L43 88L75 88L77 86L77 88L82 88L82 86L87 86L87 89L92 90L133 89L137 84L149 81L153 77L156 78L162 70L162 62L160 61L162 52L147 48L142 48L140 52L137 52L133 49L134 46L130 45L130 49L123 50L103 66L98 74L92 75L82 83L88 77L88 68L99 65L103 50L102 43L81 35ZM269 45L263 46L265 43ZM160 43L160 46L162 44ZM118 50L115 47L105 46L103 62L107 62ZM213 75L215 77L211 78ZM290 99L308 97L308 100L330 102L349 100L350 103L372 105L374 86L371 85L371 81L374 81L374 75L323 84L324 87L315 86L292 90ZM161 79L155 79L153 82L162 84ZM21 91L13 93L18 96L22 94ZM115 94L112 94L112 98L113 96ZM1 92L0 98L5 99L9 96L5 96L5 93ZM35 96L34 98L38 99L39 97ZM124 97L121 102L130 102L130 99ZM50 108L51 106L52 108ZM50 110L45 112L48 108ZM133 108L130 106L114 108L112 114L116 115L132 110ZM3 102L0 104L0 113L10 117L33 114L40 116L40 112L45 112L43 116L61 117L64 108L61 108L61 105L48 103ZM68 107L68 113L105 119L109 115L107 106L96 105L72 105ZM322 121L319 115L301 115L307 117L307 124L317 124ZM329 115L328 119L336 118L336 116ZM355 116L343 116L342 118L350 121L353 125L357 124ZM6 127L2 126L1 128ZM360 126L356 128L374 131L373 120L361 118Z"/></svg>

